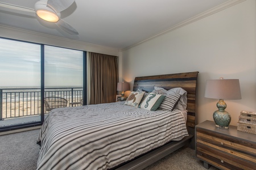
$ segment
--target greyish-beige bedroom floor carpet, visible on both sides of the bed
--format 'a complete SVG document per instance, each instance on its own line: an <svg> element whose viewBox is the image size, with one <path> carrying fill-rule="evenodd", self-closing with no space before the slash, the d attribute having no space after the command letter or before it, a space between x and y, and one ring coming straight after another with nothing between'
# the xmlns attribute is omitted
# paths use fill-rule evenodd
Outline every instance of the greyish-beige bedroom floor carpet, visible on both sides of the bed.
<svg viewBox="0 0 256 170"><path fill-rule="evenodd" d="M36 144L39 129L0 136L0 170L35 170L40 146ZM195 150L181 148L145 169L202 169L203 162ZM210 167L210 170L217 169ZM60 169L61 170L61 169Z"/></svg>

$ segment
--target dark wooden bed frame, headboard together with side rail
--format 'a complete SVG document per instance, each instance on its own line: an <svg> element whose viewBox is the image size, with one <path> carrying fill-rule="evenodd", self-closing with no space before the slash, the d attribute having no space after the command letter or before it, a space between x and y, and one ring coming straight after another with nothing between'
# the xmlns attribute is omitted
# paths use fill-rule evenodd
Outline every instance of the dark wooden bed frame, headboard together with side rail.
<svg viewBox="0 0 256 170"><path fill-rule="evenodd" d="M154 90L154 86L165 88L170 90L171 88L181 87L187 91L187 129L189 136L184 137L181 141L172 141L166 145L159 147L153 151L148 152L128 163L123 163L119 168L115 169L143 169L148 165L155 163L164 156L171 154L177 149L183 146L189 146L195 148L195 125L197 124L196 118L196 85L198 71L189 73L177 73L166 75L154 75L154 76L141 76L136 77L134 80L133 91L142 88L143 91L151 92Z"/></svg>

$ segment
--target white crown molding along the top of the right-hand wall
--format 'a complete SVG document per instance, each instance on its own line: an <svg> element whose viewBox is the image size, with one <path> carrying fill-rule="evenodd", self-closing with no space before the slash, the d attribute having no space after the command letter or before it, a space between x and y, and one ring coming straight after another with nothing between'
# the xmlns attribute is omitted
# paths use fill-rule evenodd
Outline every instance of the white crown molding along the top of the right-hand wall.
<svg viewBox="0 0 256 170"><path fill-rule="evenodd" d="M191 24L191 23L194 23L196 22L197 20L201 20L201 19L204 19L210 15L213 15L213 14L216 14L217 12L220 12L222 10L225 10L226 8L229 8L229 7L232 7L234 5L237 5L238 3L241 3L241 2L244 2L246 0L230 0L228 2L225 2L225 3L222 3L221 5L218 5L214 8L211 8L210 10L207 10L205 12L202 12L201 14L199 15L196 15L196 16L193 16L192 18L188 19L188 20L185 20L184 22L181 22L179 24L176 24L174 25L173 27L170 27L168 29L166 29L165 31L162 31L154 36L151 36L150 38L146 39L146 40L143 40L141 42L138 42L137 44L134 44L134 45L131 45L127 48L124 48L121 50L121 52L125 51L125 50L128 50L128 49L131 49L133 48L134 46L137 46L139 44L142 44L143 42L146 42L146 41L149 41L149 40L152 40L152 39L155 39L156 37L159 37L159 36L162 36L168 32L172 32L176 29L179 29L181 27L184 27L185 25L188 25L188 24Z"/></svg>

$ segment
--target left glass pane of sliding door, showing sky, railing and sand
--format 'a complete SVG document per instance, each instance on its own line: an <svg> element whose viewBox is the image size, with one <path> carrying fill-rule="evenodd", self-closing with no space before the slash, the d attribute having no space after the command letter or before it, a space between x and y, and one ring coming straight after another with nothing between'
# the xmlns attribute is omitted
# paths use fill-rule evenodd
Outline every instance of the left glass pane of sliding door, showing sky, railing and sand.
<svg viewBox="0 0 256 170"><path fill-rule="evenodd" d="M40 121L40 45L0 39L0 48L0 126Z"/></svg>

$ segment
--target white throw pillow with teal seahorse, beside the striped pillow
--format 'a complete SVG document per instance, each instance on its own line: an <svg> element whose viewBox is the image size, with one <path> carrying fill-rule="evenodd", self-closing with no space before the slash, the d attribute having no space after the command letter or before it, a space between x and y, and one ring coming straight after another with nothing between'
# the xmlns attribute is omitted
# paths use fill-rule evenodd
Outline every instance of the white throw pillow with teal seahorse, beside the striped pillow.
<svg viewBox="0 0 256 170"><path fill-rule="evenodd" d="M150 93L140 104L140 108L147 109L148 111L156 111L166 96Z"/></svg>

